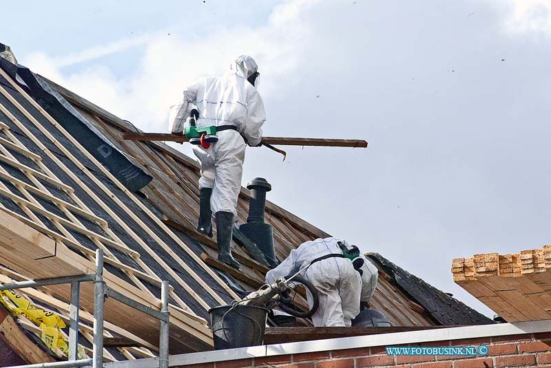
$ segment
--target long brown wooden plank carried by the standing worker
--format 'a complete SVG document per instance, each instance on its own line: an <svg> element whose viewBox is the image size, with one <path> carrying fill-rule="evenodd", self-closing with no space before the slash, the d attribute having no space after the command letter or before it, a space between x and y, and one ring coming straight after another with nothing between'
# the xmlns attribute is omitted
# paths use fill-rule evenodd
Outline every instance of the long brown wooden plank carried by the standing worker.
<svg viewBox="0 0 551 368"><path fill-rule="evenodd" d="M188 142L185 136L173 133L143 133L128 132L123 133L125 140L142 141L169 141L169 142ZM277 144L280 146L318 146L318 147L357 147L366 148L365 140L355 139L331 139L331 138L287 138L287 137L262 137L262 142L266 144Z"/></svg>

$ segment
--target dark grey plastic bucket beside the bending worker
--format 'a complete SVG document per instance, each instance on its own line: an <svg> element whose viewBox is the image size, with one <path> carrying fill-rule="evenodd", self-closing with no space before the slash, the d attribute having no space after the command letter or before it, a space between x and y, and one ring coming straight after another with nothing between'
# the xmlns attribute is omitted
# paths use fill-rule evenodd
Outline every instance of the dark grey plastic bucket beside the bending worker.
<svg viewBox="0 0 551 368"><path fill-rule="evenodd" d="M253 305L230 308L231 305L220 305L209 310L214 349L262 345L268 310Z"/></svg>

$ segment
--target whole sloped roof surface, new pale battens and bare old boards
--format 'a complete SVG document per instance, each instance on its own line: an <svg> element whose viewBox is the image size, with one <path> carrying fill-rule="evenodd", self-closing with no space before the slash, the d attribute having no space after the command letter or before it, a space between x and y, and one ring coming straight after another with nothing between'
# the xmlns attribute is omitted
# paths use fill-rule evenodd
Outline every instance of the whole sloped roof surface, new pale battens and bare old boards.
<svg viewBox="0 0 551 368"><path fill-rule="evenodd" d="M208 319L207 310L258 288L268 266L258 257L256 246L247 239L244 246L241 239L232 244L242 264L237 272L216 260L216 241L194 230L200 175L194 160L164 144L122 140L123 132L134 130L132 125L50 84L153 180L137 193L128 191L78 137L67 133L63 122L50 116L43 101L39 102L44 106L39 105L1 72L0 209L55 239L60 247L71 250L75 259L93 259L96 248L103 248L106 270L136 295L158 299L159 281L169 280L174 288L171 305L182 311L171 319L182 318L187 323L180 325L183 331L174 329L179 335L171 340L177 348L173 351L205 349L208 337L201 334L207 334L207 327L201 325L201 318ZM248 197L243 188L238 199L241 222L247 218ZM267 203L266 221L273 226L279 259L304 241L329 236L271 203ZM412 275L406 277L407 272L382 257L375 259L386 276L380 278L373 306L393 325L488 323L471 318L474 311L470 308L446 301L443 293L417 278L414 282ZM32 277L32 270L17 262L5 259L3 263L23 277ZM10 272L3 273L12 277ZM304 305L304 298L299 302ZM456 317L450 317L452 314ZM148 338L154 342L154 336Z"/></svg>

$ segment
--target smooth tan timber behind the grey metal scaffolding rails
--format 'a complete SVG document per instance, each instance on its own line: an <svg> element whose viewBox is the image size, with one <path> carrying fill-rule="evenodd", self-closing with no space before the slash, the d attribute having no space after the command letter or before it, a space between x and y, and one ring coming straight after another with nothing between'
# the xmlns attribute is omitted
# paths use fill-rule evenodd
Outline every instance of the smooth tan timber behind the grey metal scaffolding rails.
<svg viewBox="0 0 551 368"><path fill-rule="evenodd" d="M32 259L28 255L35 255L39 258ZM0 257L8 263L12 270L22 274L25 279L92 274L95 269L92 261L76 255L53 239L2 211L0 211ZM6 273L5 270L1 271L0 273ZM14 279L14 277L10 277L10 279ZM149 307L160 308L158 299L152 299L148 294L118 279L110 272L104 272L104 279L109 288L132 296L134 300ZM8 279L2 279L2 281L6 282ZM65 303L70 300L70 292L63 285L50 285L41 289L47 290L50 295L46 294L48 296L45 296L39 292L31 292L32 296L39 299L46 298L45 301L53 303L55 307L62 305L61 301L55 302L55 299L61 299ZM29 290L24 289L22 291L29 292ZM92 318L90 314L87 314L87 311L93 310L93 295L93 285L83 283L81 285L83 318ZM171 312L171 329L174 329L174 334L182 336L183 333L194 332L193 338L197 340L196 344L202 341L200 344L203 347L211 345L209 329L205 325L198 323L194 318L190 318L188 314L175 310L174 307L169 309ZM129 338L144 336L149 345L156 346L158 342L158 322L154 318L148 318L140 313L136 314L133 310L129 310L120 303L110 301L110 299L105 301L105 318L108 323L112 323L112 325L106 325L108 330L116 334L123 333ZM141 323L136 324L136 318L140 318ZM157 338L154 338L155 334L157 334ZM184 348L185 343L189 343L189 341L178 342L174 338L171 340L174 351L189 351L189 347Z"/></svg>

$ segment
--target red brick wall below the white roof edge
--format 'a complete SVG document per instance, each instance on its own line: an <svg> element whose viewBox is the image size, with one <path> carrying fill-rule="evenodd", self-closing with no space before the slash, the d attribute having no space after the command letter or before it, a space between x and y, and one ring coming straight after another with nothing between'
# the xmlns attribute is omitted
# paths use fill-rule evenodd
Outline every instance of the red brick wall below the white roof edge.
<svg viewBox="0 0 551 368"><path fill-rule="evenodd" d="M487 356L387 356L384 347L319 351L285 356L248 358L193 365L194 368L487 368L548 367L551 368L551 332L434 341L395 346L473 346L488 345ZM394 345L393 345L394 346ZM191 366L187 366L191 367Z"/></svg>

